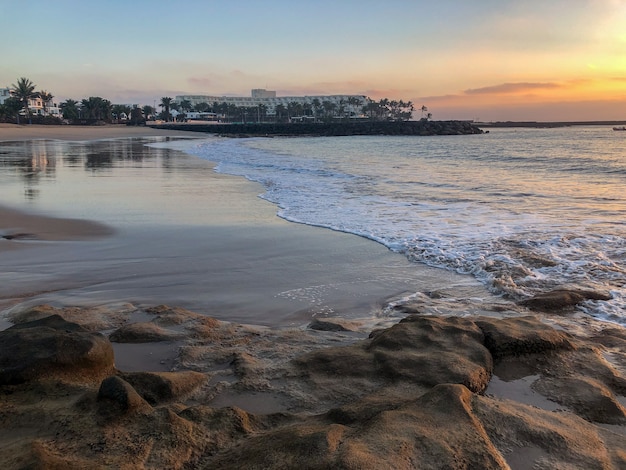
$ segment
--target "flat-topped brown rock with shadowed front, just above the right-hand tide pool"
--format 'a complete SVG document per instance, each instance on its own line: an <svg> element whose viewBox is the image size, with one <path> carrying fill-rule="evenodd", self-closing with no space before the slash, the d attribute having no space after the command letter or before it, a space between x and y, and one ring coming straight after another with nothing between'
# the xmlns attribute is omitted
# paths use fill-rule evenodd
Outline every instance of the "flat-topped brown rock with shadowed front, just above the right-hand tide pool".
<svg viewBox="0 0 626 470"><path fill-rule="evenodd" d="M485 346L494 359L575 348L570 335L556 331L536 317L481 318L476 325L483 331Z"/></svg>

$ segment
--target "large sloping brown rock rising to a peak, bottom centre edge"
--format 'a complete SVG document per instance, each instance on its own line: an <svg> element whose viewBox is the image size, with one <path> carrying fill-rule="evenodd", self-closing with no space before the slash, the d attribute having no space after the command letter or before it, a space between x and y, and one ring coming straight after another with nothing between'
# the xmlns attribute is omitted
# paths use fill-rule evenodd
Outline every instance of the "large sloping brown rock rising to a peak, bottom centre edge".
<svg viewBox="0 0 626 470"><path fill-rule="evenodd" d="M203 468L506 468L472 400L462 385L439 385L349 427L313 418L252 436Z"/></svg>

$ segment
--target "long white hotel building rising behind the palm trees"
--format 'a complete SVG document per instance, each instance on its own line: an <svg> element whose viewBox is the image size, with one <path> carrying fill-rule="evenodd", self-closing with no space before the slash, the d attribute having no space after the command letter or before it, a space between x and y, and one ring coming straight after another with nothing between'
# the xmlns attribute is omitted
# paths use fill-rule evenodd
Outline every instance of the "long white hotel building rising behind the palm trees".
<svg viewBox="0 0 626 470"><path fill-rule="evenodd" d="M209 96L209 95L177 95L174 99L177 103L187 100L192 106L200 103L227 103L239 107L255 108L264 105L268 115L276 114L276 106L287 107L289 103L311 105L314 100L320 103L329 101L337 106L343 105L348 114L360 115L362 108L367 104L367 97L364 95L328 95L328 96L276 96L276 92L257 88L252 90L251 96Z"/></svg>

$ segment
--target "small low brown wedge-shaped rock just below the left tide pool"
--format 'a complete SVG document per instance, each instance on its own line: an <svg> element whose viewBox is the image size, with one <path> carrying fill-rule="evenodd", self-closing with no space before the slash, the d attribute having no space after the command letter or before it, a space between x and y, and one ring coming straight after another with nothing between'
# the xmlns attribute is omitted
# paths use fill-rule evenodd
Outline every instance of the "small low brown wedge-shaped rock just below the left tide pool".
<svg viewBox="0 0 626 470"><path fill-rule="evenodd" d="M182 400L206 383L199 372L121 372L120 377L151 405Z"/></svg>

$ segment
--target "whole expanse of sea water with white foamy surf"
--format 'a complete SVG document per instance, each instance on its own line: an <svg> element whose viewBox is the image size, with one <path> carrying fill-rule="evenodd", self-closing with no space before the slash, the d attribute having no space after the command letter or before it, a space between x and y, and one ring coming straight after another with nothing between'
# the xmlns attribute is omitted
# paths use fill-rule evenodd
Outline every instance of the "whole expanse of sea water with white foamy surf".
<svg viewBox="0 0 626 470"><path fill-rule="evenodd" d="M262 197L289 221L375 240L514 300L601 290L611 299L579 308L626 323L626 138L611 128L183 147L262 183Z"/></svg>

